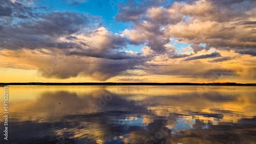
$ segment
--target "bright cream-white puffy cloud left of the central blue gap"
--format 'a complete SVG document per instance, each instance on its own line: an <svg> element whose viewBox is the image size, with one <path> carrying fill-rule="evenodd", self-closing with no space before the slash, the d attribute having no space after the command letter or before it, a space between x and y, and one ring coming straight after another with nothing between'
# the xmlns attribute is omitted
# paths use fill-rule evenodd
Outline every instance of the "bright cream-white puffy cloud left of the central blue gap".
<svg viewBox="0 0 256 144"><path fill-rule="evenodd" d="M69 55L75 54L107 59L130 59L139 56L139 54L135 53L128 54L115 51L123 49L127 45L127 38L120 34L114 34L103 27L90 33L76 35L76 38L72 38L70 42L79 46L71 47L72 49L67 50L63 49Z"/></svg>

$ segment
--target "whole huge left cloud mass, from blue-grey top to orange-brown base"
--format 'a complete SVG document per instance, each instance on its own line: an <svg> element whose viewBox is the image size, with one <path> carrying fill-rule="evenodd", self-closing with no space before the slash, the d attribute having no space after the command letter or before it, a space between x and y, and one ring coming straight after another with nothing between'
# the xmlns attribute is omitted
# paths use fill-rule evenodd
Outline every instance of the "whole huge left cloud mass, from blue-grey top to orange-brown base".
<svg viewBox="0 0 256 144"><path fill-rule="evenodd" d="M1 25L0 56L6 63L1 65L37 69L46 78L80 75L105 81L143 63L141 53L119 51L127 45L127 38L105 29L102 22L100 16L55 11ZM59 52L65 62L56 59ZM56 67L51 66L52 61Z"/></svg>

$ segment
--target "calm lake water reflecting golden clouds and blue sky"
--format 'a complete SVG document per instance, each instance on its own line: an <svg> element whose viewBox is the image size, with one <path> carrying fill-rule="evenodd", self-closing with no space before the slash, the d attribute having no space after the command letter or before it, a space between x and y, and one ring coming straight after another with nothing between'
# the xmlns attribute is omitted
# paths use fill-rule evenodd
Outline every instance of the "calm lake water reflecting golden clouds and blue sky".
<svg viewBox="0 0 256 144"><path fill-rule="evenodd" d="M8 89L8 143L256 143L256 87Z"/></svg>

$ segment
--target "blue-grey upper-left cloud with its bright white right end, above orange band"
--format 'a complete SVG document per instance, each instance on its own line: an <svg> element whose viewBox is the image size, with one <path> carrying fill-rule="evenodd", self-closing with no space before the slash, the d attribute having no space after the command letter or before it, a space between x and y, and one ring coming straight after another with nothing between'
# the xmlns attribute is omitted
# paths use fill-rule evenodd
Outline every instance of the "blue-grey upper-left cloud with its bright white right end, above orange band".
<svg viewBox="0 0 256 144"><path fill-rule="evenodd" d="M91 26L98 22L98 26ZM139 54L114 51L127 45L127 38L101 27L99 16L52 12L40 19L3 26L0 46L5 49L60 49L67 55L106 59L134 59ZM96 26L96 28L95 28Z"/></svg>

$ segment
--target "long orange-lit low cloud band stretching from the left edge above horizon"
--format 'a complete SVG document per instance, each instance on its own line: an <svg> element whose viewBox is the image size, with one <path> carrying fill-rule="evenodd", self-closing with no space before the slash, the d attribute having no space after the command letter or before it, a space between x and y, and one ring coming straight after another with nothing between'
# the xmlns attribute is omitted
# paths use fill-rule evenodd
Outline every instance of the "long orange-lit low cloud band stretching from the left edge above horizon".
<svg viewBox="0 0 256 144"><path fill-rule="evenodd" d="M80 75L105 81L127 69L136 69L135 65L142 65L144 62L143 59L113 60L77 55L67 56L56 49L41 50L2 50L0 57L5 65L1 66L13 64L16 68L37 69L39 78L68 79Z"/></svg>

